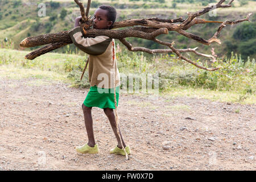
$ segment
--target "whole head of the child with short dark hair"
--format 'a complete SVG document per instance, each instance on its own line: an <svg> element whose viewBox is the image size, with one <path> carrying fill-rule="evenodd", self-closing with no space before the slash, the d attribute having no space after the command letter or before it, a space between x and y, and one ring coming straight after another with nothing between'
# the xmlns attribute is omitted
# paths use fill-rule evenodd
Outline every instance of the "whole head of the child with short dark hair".
<svg viewBox="0 0 256 182"><path fill-rule="evenodd" d="M117 17L117 11L109 5L101 5L94 13L93 28L110 29Z"/></svg>

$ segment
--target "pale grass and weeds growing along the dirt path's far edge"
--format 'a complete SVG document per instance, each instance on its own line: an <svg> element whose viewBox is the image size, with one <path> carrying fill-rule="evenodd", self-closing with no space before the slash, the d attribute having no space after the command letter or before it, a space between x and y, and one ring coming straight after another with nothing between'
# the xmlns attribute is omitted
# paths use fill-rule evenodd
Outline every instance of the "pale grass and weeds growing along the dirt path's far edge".
<svg viewBox="0 0 256 182"><path fill-rule="evenodd" d="M213 64L205 62L204 64L208 64L208 66L223 67L219 71L208 72L177 60L174 55L160 55L147 59L143 53L119 51L117 53L119 72L126 75L127 80L129 80L129 73L136 73L139 77L143 73L158 73L159 90L162 94L177 88L208 90L209 92L236 93L234 98L229 98L230 101L255 102L255 59L248 57L247 60L243 60L241 56L232 55L231 59L219 59ZM88 71L86 71L83 80L80 81L86 56L78 56L70 52L67 52L67 54L48 53L35 60L26 60L23 58L26 53L24 51L0 49L0 71L8 66L19 69L33 69L34 72L36 70L39 72L51 71L53 73L49 73L49 75L60 75L61 80L69 82L72 86L89 88ZM8 73L6 73L6 76L8 76ZM48 76L42 77L47 78ZM55 80L58 80L58 78L55 77ZM121 81L125 80L121 77Z"/></svg>

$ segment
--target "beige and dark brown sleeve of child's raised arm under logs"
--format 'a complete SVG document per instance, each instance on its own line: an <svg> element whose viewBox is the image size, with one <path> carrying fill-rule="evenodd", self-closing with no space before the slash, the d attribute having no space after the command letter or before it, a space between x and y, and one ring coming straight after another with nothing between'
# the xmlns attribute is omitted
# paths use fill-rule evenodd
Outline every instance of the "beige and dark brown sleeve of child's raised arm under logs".
<svg viewBox="0 0 256 182"><path fill-rule="evenodd" d="M109 43L112 42L108 36L96 36L95 38L84 38L81 27L75 27L68 32L73 44L76 47L88 53L89 55L101 55L106 51Z"/></svg>

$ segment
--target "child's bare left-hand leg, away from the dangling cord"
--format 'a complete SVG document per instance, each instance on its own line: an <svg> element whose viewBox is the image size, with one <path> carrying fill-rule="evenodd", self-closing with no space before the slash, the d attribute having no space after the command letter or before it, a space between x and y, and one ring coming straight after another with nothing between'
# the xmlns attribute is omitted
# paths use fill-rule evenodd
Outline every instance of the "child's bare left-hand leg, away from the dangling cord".
<svg viewBox="0 0 256 182"><path fill-rule="evenodd" d="M84 104L82 104L82 111L84 112L84 122L88 135L87 144L90 147L94 147L96 143L93 135L92 107L86 107Z"/></svg>

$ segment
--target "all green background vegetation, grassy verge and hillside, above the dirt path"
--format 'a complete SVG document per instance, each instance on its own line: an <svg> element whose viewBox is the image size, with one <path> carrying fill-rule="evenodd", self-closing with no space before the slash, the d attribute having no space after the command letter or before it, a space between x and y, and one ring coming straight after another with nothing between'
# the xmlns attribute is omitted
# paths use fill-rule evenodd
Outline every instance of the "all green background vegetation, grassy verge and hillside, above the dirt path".
<svg viewBox="0 0 256 182"><path fill-rule="evenodd" d="M0 71L2 76L21 78L22 75L37 78L49 78L69 82L72 86L88 88L88 73L80 81L82 69L84 69L86 54L79 51L73 44L40 56L35 60L25 60L23 57L28 51L16 51L20 40L27 36L41 35L49 32L69 30L73 27L73 19L80 14L75 3L61 4L61 1L47 1L46 17L38 17L37 5L23 7L23 1L0 0ZM118 18L150 18L154 14L159 18L174 18L185 16L189 11L199 10L208 3L216 1L199 0L125 0L104 1L117 8ZM194 3L195 6L187 6ZM101 1L92 1L94 9L100 6ZM208 20L233 20L240 19L254 7L255 1L237 1L232 11L226 13L220 11L217 17L205 15ZM240 7L245 7L240 9ZM192 8L192 9L191 9ZM155 11L154 9L159 9ZM75 10L75 11L74 11ZM160 12L160 13L158 13ZM204 97L212 96L215 100L232 101L255 104L255 57L256 57L256 15L251 16L251 23L244 22L238 26L227 26L221 32L222 45L202 46L193 40L189 40L176 32L168 35L160 35L160 40L175 41L176 48L199 47L200 52L210 53L214 48L218 55L213 64L203 57L189 53L192 60L208 67L223 67L219 71L207 72L194 67L184 61L177 60L172 54L160 54L156 56L141 52L129 52L121 45L121 51L117 53L118 69L120 73L158 73L159 89L161 94L178 96L184 94L190 96L197 92ZM195 26L191 32L211 37L217 30L218 24L208 23ZM129 38L133 46L143 46L151 49L164 48L149 40ZM38 48L38 47L36 47ZM29 48L30 50L35 48ZM28 50L28 49L26 49ZM59 53L53 53L59 52ZM64 54L60 54L64 53ZM19 73L17 76L13 73ZM24 71L26 70L26 71ZM122 80L123 81L123 80ZM204 92L204 93L203 93ZM208 94L205 94L205 93ZM223 96L226 97L223 97ZM216 98L215 98L216 96ZM211 97L211 98L212 98Z"/></svg>

